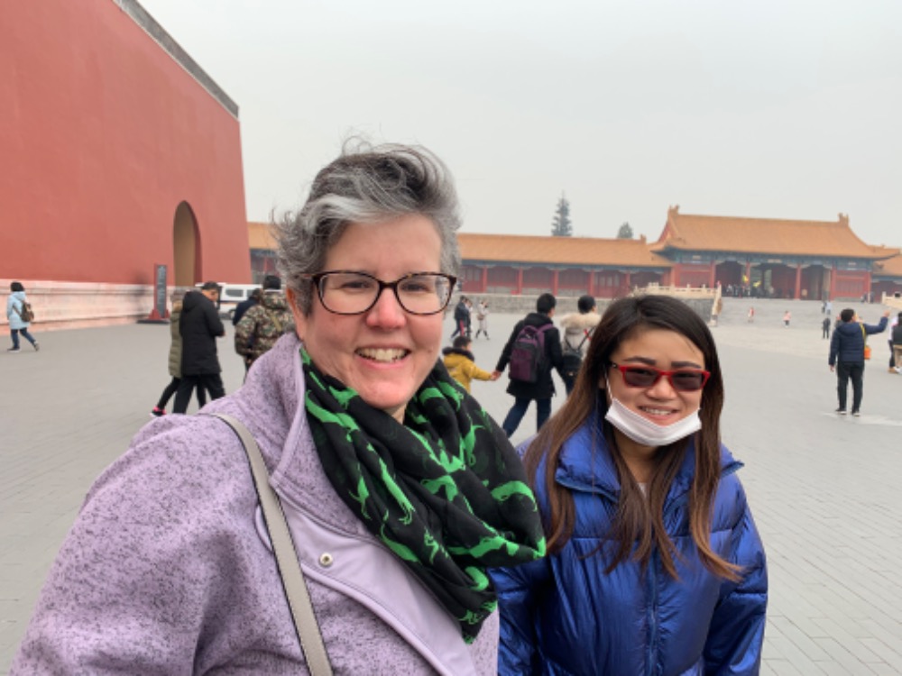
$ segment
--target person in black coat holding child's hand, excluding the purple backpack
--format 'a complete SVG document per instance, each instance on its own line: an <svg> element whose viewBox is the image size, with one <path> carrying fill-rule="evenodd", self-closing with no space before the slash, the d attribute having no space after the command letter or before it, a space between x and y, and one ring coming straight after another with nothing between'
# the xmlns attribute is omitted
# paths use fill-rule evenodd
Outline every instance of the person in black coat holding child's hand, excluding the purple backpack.
<svg viewBox="0 0 902 676"><path fill-rule="evenodd" d="M524 380L516 380L511 378L508 383L507 392L514 397L514 404L508 415L504 418L502 427L504 432L510 437L516 432L520 425L520 420L526 415L529 408L529 402L536 402L536 429L540 429L548 417L551 416L551 397L555 394L555 383L551 379L551 370L557 369L560 373L562 368L561 338L557 327L553 325L551 317L555 314L555 306L557 299L551 294L542 294L536 300L536 312L530 312L521 319L516 326L513 327L511 337L505 343L502 350L502 356L495 366L495 378L501 376L508 363L511 361L511 352L513 352L513 344L517 340L520 329L524 326L545 326L552 324L545 331L545 358L541 362L541 370L538 374L536 382L526 382ZM562 375L563 377L563 375Z"/></svg>

